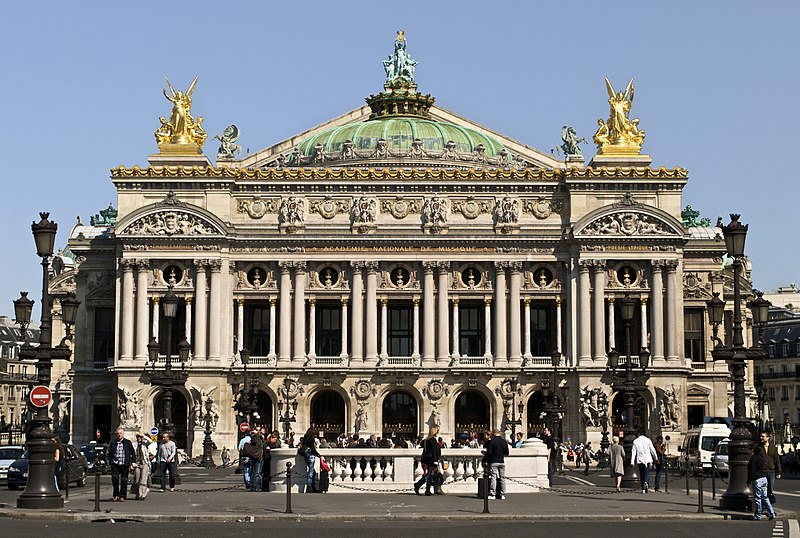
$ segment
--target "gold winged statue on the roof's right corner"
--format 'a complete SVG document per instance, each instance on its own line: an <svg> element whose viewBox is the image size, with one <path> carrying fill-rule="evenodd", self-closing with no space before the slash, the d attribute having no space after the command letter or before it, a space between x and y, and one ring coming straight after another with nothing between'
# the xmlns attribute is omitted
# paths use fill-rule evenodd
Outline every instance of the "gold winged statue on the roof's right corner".
<svg viewBox="0 0 800 538"><path fill-rule="evenodd" d="M639 130L639 118L628 119L633 103L633 79L624 92L615 92L606 78L608 104L611 112L607 121L597 120L594 141L600 155L638 155L644 143L644 131Z"/></svg>

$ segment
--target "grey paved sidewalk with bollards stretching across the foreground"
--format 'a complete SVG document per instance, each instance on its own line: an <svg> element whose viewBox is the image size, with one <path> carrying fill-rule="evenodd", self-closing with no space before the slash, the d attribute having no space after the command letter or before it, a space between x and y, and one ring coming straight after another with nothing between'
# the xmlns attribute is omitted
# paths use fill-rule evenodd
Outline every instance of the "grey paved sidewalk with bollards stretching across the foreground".
<svg viewBox="0 0 800 538"><path fill-rule="evenodd" d="M124 503L111 500L111 479L101 477L100 512L94 508L93 477L85 488L71 488L62 510L20 510L20 492L0 492L0 519L49 519L68 521L215 521L237 520L725 520L747 519L744 512L724 512L706 494L705 513L697 513L697 494L615 493L599 486L559 486L555 491L509 494L506 500L489 501L491 514L482 514L483 500L463 494L424 497L404 493L292 494L292 514L284 513L284 493L254 493L241 486L241 475L232 469L181 468L183 484L175 492L152 490L144 501L131 496ZM445 487L446 490L446 487ZM797 514L778 510L781 519Z"/></svg>

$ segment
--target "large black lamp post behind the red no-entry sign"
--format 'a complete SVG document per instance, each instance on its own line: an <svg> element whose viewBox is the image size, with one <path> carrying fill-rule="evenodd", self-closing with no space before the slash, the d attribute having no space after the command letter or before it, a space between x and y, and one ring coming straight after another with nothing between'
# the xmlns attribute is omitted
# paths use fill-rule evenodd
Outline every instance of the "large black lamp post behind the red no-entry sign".
<svg viewBox="0 0 800 538"><path fill-rule="evenodd" d="M53 256L56 231L58 225L50 222L50 213L39 213L41 220L31 223L33 239L36 243L36 254L42 259L42 318L39 329L39 346L34 348L28 344L27 327L30 323L33 301L28 299L27 293L20 293L20 298L14 301L14 315L17 323L25 332L25 345L20 351L21 359L36 359L36 377L39 385L50 387L50 371L54 360L69 360L72 352L66 345L66 340L53 347L52 312L50 305L49 264ZM67 304L62 302L62 321L67 326L70 334L71 326L75 323L80 302L72 298ZM37 407L33 412L28 429L28 482L25 491L17 499L17 508L53 509L62 508L64 499L58 492L53 480L55 474L55 442L53 431L50 428L52 420L47 413L47 406Z"/></svg>

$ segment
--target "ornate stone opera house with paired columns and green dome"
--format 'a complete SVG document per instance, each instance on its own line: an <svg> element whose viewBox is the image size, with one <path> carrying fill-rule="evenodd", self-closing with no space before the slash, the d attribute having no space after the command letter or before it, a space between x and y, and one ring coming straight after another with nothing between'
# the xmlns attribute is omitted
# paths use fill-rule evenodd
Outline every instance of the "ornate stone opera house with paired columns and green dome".
<svg viewBox="0 0 800 538"><path fill-rule="evenodd" d="M167 340L173 364L191 345L173 421L193 454L209 397L216 444L236 441L242 348L251 422L269 428L410 437L437 424L450 439L508 429L521 409L516 429L533 434L543 385L565 380L562 436L597 442L604 414L621 428L608 351L625 350L625 296L633 354L652 355L638 423L679 439L698 417L729 415L705 312L728 289L724 241L681 221L687 171L638 152L557 159L436 106L407 75L243 158L227 139L215 165L162 118L150 165L112 170L116 220L69 239L75 442L161 418L152 338L156 368Z"/></svg>

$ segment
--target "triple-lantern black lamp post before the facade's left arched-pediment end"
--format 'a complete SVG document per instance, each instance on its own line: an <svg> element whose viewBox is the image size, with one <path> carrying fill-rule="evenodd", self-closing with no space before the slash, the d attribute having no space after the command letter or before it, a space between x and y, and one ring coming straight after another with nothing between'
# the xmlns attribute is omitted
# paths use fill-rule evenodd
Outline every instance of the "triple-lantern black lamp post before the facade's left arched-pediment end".
<svg viewBox="0 0 800 538"><path fill-rule="evenodd" d="M182 387L186 383L188 376L185 368L186 362L189 360L189 351L191 345L186 341L184 336L183 340L178 344L178 360L181 363L181 369L175 371L172 369L172 321L178 312L178 303L180 299L172 291L172 285L169 286L167 293L161 298L159 303L163 309L164 318L167 320L167 356L164 361L164 369L158 370L158 355L159 344L155 336L150 339L147 344L147 353L150 359L150 384L154 387L161 387L163 392L163 405L164 416L158 425L159 437L163 434L168 434L171 440L175 438L174 424L172 423L172 394L175 387ZM178 473L178 465L175 465L175 483L180 484L180 475ZM163 486L163 484L162 484Z"/></svg>

